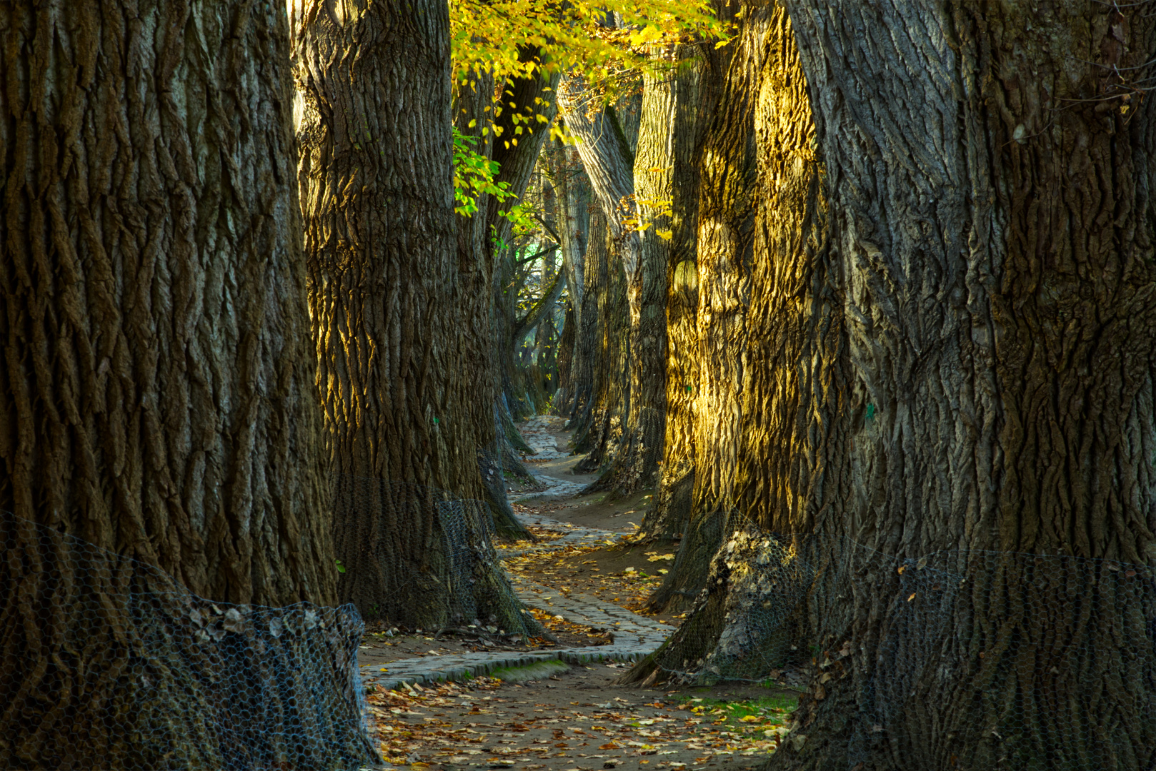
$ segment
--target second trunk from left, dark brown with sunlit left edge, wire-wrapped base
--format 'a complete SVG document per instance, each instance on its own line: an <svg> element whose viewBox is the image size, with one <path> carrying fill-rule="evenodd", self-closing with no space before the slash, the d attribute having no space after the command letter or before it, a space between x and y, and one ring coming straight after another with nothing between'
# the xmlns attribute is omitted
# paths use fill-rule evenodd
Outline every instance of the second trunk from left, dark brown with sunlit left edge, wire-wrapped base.
<svg viewBox="0 0 1156 771"><path fill-rule="evenodd" d="M447 7L311 3L294 21L340 595L412 627L526 631L487 540L488 405L459 344L484 331L486 269L455 249Z"/></svg>

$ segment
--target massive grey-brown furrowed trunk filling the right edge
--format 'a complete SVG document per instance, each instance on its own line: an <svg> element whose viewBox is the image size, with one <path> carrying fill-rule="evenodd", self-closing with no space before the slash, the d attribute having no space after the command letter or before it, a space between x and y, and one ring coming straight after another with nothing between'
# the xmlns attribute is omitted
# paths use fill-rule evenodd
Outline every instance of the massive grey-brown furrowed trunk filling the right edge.
<svg viewBox="0 0 1156 771"><path fill-rule="evenodd" d="M844 10L792 7L851 364L849 495L808 510L948 580L906 602L853 563L846 674L776 765L1153 768L1156 109L1128 83L1156 17Z"/></svg>

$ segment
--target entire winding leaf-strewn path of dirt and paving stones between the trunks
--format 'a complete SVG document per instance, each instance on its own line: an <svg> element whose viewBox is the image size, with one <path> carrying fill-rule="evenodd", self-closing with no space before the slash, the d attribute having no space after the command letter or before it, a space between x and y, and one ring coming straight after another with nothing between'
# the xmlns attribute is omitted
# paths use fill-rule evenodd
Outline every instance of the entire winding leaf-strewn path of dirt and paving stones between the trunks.
<svg viewBox="0 0 1156 771"><path fill-rule="evenodd" d="M543 477L546 491L512 491L511 497L516 513L542 542L502 544L499 555L523 596L536 592L527 602L558 643L541 640L529 648L512 639L438 640L428 631L405 630L386 637L378 630L366 636L363 661L385 672L420 659L422 666L436 667L438 659L466 651L510 660L562 647L594 653L621 642L622 635L615 622L592 622L593 614L576 608L593 600L608 610L643 609L674 556L672 548L630 542L651 492L617 502L605 494L575 495L594 476L572 473L580 458L565 454L569 433L561 421L538 416L520 429L527 443L540 448L527 466ZM657 628L654 622L672 629L680 623L672 616L640 621L651 628ZM781 726L794 707L792 691L727 684L664 691L613 684L629 666L539 662L491 672L489 677L393 690L370 684L366 691L383 756L417 771L748 769L786 733Z"/></svg>

